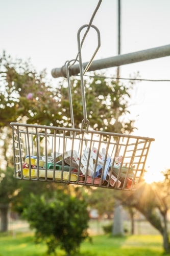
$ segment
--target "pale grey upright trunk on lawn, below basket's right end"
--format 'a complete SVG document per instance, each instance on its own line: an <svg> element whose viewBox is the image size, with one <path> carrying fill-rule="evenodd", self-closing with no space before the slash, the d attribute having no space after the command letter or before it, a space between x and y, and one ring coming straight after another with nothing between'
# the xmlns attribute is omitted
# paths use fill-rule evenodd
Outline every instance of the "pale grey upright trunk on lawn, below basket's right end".
<svg viewBox="0 0 170 256"><path fill-rule="evenodd" d="M114 223L112 229L113 236L124 236L123 220L122 220L122 205L119 200L115 200Z"/></svg>

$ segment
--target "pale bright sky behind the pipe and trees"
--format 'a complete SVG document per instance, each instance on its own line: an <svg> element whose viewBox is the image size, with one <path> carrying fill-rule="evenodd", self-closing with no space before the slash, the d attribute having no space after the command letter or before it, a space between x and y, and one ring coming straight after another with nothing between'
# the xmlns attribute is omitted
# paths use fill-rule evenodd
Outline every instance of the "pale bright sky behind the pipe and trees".
<svg viewBox="0 0 170 256"><path fill-rule="evenodd" d="M31 59L37 71L51 70L77 56L77 32L88 24L98 0L0 0L0 54ZM117 55L117 0L103 0L93 25L101 33L101 48L94 59ZM170 44L169 0L121 0L121 54ZM83 33L83 32L82 32ZM90 30L82 48L87 62L97 45L96 32ZM170 56L120 67L120 77L137 72L143 79L170 79ZM116 74L116 68L104 70ZM126 81L124 81L126 83ZM141 81L135 84L129 107L138 130L134 135L155 138L145 169L150 180L170 168L169 109L170 82ZM87 102L88 104L88 102Z"/></svg>

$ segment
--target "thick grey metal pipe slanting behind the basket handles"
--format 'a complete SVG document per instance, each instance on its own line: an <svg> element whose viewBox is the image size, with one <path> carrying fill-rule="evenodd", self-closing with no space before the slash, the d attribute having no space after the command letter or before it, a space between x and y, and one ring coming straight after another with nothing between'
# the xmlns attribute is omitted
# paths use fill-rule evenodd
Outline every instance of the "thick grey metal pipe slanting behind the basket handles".
<svg viewBox="0 0 170 256"><path fill-rule="evenodd" d="M127 65L135 62L140 62L144 60L156 59L170 56L170 45L160 46L152 49L147 49L139 52L132 52L127 54L122 54L114 57L109 57L105 59L94 60L91 63L88 71L95 71L100 69L108 69L112 67ZM86 68L88 62L83 63L84 69ZM69 74L77 75L80 73L79 65L74 65L69 68ZM66 67L52 69L52 76L54 78L65 76L66 77Z"/></svg>

